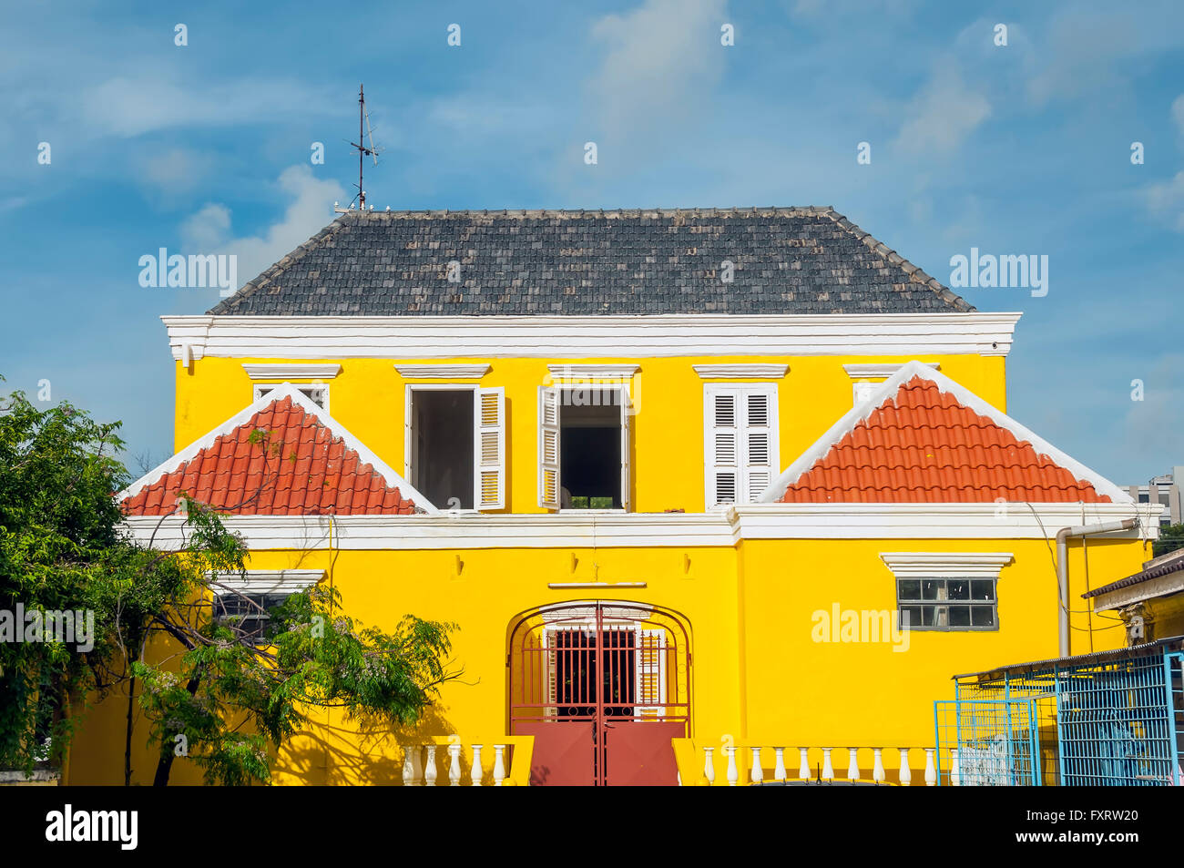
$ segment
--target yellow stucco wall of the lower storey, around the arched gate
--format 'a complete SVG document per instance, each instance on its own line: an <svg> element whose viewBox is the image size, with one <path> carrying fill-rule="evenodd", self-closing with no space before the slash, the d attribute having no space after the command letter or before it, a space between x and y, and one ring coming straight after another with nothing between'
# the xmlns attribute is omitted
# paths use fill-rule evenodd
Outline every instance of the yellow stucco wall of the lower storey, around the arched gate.
<svg viewBox="0 0 1184 868"><path fill-rule="evenodd" d="M907 651L892 642L815 641L815 611L895 606L892 573L880 552L1011 552L998 584L999 625L992 632L914 632ZM1092 577L1133 572L1137 542L1089 544ZM926 746L933 742L933 700L952 697L951 676L1056 656L1056 579L1042 540L761 540L735 547L345 551L332 580L346 607L366 624L392 628L405 613L452 621L453 661L463 679L444 686L422 734L461 734L491 744L508 719L507 629L535 606L588 599L596 591L551 590L548 581L644 580L645 589L601 591L601 598L676 609L691 625L690 735L719 744ZM684 555L690 559L684 568ZM593 564L597 566L593 567ZM329 567L326 552L256 552L253 568ZM1085 629L1081 546L1070 548L1076 626ZM1120 629L1094 617L1095 649L1122 644ZM1074 652L1089 650L1074 631ZM91 709L76 742L69 783L122 780L126 701ZM139 711L136 712L137 718ZM142 724L141 724L142 726ZM277 783L399 783L406 733L371 732L332 712L295 739L276 766ZM405 739L404 739L405 742ZM135 780L150 783L155 758L137 729ZM488 756L487 756L488 766ZM174 783L198 783L187 763Z"/></svg>

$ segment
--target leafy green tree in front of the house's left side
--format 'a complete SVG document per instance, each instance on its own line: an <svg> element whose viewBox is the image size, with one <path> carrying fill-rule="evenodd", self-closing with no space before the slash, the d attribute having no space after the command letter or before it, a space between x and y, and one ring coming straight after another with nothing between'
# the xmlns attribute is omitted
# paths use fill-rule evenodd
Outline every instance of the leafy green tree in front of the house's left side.
<svg viewBox="0 0 1184 868"><path fill-rule="evenodd" d="M123 533L118 427L69 404L39 410L21 392L0 403L0 630L18 604L94 616L85 650L0 641L0 766L59 760L85 703L118 687L128 695L126 783L136 699L160 748L156 784L168 782L176 756L211 783L266 780L274 748L308 725L311 708L410 724L459 674L445 664L453 625L407 616L390 634L362 628L328 589L289 598L271 612L268 636L242 615L225 616L219 596L262 612L221 580L243 571L243 540L187 496L180 548ZM266 432L251 442L272 470L262 490L282 458Z"/></svg>

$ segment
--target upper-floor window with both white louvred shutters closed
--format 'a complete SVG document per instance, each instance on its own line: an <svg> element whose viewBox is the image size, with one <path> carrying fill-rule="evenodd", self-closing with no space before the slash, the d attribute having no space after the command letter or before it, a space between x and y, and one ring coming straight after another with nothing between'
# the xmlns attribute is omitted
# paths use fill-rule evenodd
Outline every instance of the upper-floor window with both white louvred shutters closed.
<svg viewBox="0 0 1184 868"><path fill-rule="evenodd" d="M721 464L716 457L716 435L719 429L715 425L715 399L719 396L734 396L735 400L735 461L728 465ZM748 426L748 396L765 394L768 398L765 433L768 436L767 464L760 464L759 472L765 474L765 486L760 491L752 490L752 475L757 465L747 459L749 446ZM732 467L735 471L735 500L732 504L755 503L761 491L768 488L781 471L780 465L780 412L778 406L778 387L776 382L728 382L707 384L703 386L703 502L708 509L725 506L718 499L716 474L723 467Z"/></svg>

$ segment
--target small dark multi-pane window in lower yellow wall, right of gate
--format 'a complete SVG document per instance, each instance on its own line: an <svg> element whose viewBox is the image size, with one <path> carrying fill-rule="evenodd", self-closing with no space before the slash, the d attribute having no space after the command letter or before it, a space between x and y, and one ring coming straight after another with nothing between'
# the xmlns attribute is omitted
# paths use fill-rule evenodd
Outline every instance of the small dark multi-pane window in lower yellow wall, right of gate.
<svg viewBox="0 0 1184 868"><path fill-rule="evenodd" d="M998 630L996 579L896 579L902 630Z"/></svg>

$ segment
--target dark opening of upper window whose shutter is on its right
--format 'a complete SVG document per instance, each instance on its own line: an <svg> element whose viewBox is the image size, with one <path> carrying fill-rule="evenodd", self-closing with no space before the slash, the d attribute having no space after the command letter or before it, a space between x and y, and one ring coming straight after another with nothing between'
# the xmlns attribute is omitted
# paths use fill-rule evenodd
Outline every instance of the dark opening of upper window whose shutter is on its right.
<svg viewBox="0 0 1184 868"><path fill-rule="evenodd" d="M411 484L440 509L472 509L472 391L411 392Z"/></svg>

